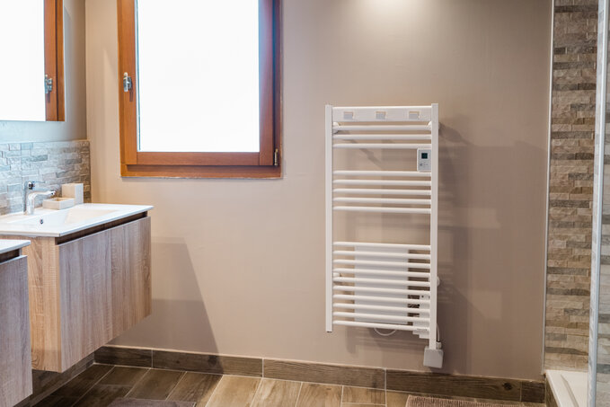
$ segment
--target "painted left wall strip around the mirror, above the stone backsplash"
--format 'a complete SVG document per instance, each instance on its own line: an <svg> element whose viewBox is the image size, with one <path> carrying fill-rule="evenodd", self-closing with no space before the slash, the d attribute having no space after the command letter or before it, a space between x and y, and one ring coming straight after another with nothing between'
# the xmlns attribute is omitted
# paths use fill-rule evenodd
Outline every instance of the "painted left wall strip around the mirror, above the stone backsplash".
<svg viewBox="0 0 610 407"><path fill-rule="evenodd" d="M64 0L64 41L66 121L0 121L0 142L65 141L87 137L84 0Z"/></svg>

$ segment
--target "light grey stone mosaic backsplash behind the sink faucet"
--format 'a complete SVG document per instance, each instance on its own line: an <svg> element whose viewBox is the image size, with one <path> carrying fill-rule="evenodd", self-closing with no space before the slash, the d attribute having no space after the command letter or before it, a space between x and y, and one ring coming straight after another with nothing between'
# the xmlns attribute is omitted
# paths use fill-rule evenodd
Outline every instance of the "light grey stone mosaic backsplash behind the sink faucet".
<svg viewBox="0 0 610 407"><path fill-rule="evenodd" d="M0 214L23 210L23 183L39 181L37 186L55 190L61 185L84 184L84 200L91 201L91 165L86 140L44 143L0 144ZM37 206L40 202L37 200Z"/></svg>

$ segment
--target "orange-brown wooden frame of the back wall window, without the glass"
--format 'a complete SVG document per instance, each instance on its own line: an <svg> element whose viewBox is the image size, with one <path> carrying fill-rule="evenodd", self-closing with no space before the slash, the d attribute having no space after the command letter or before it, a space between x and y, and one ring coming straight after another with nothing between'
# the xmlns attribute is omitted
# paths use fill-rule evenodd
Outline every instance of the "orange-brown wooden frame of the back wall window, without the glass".
<svg viewBox="0 0 610 407"><path fill-rule="evenodd" d="M137 150L137 0L117 0L119 25L120 173L123 177L279 178L281 176L280 0L260 4L259 153L175 153ZM123 91L124 73L132 87Z"/></svg>

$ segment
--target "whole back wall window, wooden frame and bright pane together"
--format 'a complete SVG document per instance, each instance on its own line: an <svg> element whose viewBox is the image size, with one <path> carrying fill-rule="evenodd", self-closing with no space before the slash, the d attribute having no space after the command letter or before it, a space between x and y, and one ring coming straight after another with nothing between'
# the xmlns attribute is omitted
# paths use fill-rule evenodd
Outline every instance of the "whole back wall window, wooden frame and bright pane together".
<svg viewBox="0 0 610 407"><path fill-rule="evenodd" d="M121 174L277 178L279 0L118 0Z"/></svg>

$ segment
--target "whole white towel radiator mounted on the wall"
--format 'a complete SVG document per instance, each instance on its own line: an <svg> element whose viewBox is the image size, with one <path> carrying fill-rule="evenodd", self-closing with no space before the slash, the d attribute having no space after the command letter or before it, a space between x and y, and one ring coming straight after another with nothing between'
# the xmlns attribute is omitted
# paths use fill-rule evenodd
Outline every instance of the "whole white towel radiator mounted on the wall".
<svg viewBox="0 0 610 407"><path fill-rule="evenodd" d="M417 151L417 168L335 168L336 150ZM411 153L411 157L412 157ZM429 217L429 244L342 242L336 212ZM437 328L438 104L326 106L326 331L333 325L411 331L429 340L423 364L442 367Z"/></svg>

